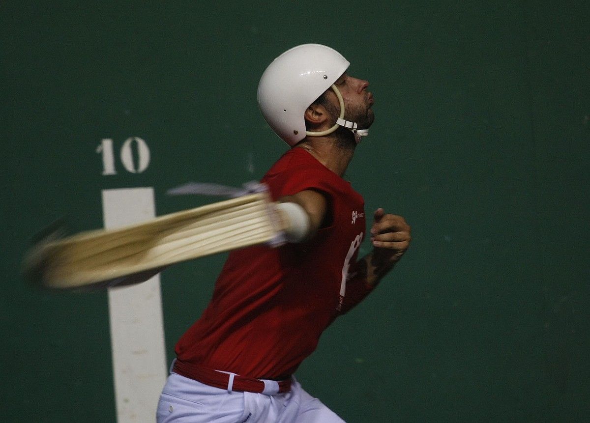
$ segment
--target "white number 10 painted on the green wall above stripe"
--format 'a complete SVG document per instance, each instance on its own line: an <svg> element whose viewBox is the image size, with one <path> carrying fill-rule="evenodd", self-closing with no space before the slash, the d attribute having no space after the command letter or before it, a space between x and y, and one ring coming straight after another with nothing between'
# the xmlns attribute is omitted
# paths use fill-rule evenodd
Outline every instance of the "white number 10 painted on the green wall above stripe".
<svg viewBox="0 0 590 423"><path fill-rule="evenodd" d="M137 163L133 160L132 144L137 148ZM97 153L103 155L103 175L116 175L117 171L114 166L113 140L104 138L101 140ZM127 138L121 147L120 153L123 167L130 173L142 173L149 166L150 153L148 144L139 137Z"/></svg>

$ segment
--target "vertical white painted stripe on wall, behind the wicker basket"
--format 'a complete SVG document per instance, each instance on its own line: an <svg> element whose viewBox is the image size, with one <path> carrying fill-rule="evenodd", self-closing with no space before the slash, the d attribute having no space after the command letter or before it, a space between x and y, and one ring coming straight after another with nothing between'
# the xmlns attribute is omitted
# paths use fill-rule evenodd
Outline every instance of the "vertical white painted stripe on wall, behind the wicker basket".
<svg viewBox="0 0 590 423"><path fill-rule="evenodd" d="M153 188L103 190L104 227L155 217ZM160 276L109 289L114 392L119 423L155 421L166 382Z"/></svg>

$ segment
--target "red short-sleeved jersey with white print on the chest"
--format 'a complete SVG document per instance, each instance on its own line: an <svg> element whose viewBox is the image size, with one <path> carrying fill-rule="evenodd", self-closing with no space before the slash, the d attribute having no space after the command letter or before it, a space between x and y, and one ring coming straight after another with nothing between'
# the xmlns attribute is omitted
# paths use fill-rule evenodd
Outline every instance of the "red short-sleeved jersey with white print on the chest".
<svg viewBox="0 0 590 423"><path fill-rule="evenodd" d="M273 200L321 191L329 223L306 243L231 252L211 302L176 344L176 355L211 369L277 379L293 374L324 329L371 289L348 280L366 232L364 201L350 183L302 148L287 151L262 182Z"/></svg>

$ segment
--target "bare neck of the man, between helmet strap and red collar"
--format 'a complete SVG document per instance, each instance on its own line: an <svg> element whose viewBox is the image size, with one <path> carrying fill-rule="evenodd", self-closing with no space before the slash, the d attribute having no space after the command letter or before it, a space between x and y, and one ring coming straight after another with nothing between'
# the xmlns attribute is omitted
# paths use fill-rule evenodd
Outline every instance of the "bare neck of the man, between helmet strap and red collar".
<svg viewBox="0 0 590 423"><path fill-rule="evenodd" d="M342 144L333 137L307 137L297 144L296 148L303 148L324 166L342 177L355 153L354 147Z"/></svg>

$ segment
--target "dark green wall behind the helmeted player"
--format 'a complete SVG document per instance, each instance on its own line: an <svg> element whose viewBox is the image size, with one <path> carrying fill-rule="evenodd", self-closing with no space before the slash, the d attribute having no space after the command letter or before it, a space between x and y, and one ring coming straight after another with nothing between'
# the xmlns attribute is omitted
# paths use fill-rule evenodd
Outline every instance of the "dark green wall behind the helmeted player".
<svg viewBox="0 0 590 423"><path fill-rule="evenodd" d="M114 421L106 293L26 285L31 237L102 189L260 178L286 146L258 78L320 42L371 81L347 177L411 250L298 373L349 422L589 421L590 6L548 1L0 4L2 421ZM103 176L129 137L149 167ZM363 245L368 250L368 244ZM224 256L162 275L168 359Z"/></svg>

